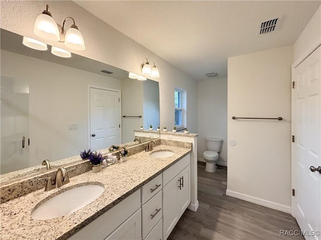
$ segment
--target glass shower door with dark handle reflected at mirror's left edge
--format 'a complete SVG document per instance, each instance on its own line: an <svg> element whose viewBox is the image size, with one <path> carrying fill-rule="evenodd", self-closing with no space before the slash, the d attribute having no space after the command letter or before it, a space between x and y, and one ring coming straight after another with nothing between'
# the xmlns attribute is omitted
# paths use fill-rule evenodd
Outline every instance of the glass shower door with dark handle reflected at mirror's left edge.
<svg viewBox="0 0 321 240"><path fill-rule="evenodd" d="M27 80L0 79L0 172L29 167L29 84Z"/></svg>

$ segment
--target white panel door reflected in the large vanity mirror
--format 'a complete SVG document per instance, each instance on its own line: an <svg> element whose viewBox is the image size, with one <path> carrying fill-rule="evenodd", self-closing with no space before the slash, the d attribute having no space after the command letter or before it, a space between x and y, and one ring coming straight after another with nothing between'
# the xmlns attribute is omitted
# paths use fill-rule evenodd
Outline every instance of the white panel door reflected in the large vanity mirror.
<svg viewBox="0 0 321 240"><path fill-rule="evenodd" d="M90 148L121 144L118 91L90 87Z"/></svg>

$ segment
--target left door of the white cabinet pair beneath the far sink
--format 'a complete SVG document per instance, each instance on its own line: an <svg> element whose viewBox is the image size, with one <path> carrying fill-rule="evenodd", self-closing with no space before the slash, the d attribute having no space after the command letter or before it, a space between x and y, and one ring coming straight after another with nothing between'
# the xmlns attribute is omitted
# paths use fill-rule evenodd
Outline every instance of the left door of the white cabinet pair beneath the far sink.
<svg viewBox="0 0 321 240"><path fill-rule="evenodd" d="M167 239L178 221L178 175L163 187L163 239Z"/></svg>

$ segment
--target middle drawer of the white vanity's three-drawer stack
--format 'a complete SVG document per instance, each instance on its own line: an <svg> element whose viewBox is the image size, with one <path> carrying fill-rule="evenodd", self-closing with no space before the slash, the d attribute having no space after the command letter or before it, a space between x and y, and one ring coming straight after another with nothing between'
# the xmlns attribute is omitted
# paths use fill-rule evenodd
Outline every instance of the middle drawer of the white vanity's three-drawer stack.
<svg viewBox="0 0 321 240"><path fill-rule="evenodd" d="M142 238L145 238L159 219L162 219L162 191L158 191L156 195L143 204L141 210Z"/></svg>

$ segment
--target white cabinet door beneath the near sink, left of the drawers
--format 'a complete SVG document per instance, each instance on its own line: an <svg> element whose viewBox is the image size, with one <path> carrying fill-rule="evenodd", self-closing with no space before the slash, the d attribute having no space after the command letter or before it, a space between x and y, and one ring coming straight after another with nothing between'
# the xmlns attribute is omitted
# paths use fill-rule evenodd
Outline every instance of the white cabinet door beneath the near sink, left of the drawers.
<svg viewBox="0 0 321 240"><path fill-rule="evenodd" d="M104 240L141 239L141 210L136 211Z"/></svg>

